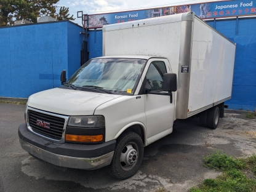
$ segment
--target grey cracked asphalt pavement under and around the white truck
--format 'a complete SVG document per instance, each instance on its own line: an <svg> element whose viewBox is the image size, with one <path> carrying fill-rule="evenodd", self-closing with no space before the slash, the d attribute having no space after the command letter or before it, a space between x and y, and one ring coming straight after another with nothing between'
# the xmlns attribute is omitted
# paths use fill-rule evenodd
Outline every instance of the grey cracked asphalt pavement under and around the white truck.
<svg viewBox="0 0 256 192"><path fill-rule="evenodd" d="M140 170L126 180L98 170L46 165L22 150L18 126L25 105L0 103L0 192L6 191L187 191L219 172L204 167L203 156L223 150L236 157L256 153L256 119L228 111L216 130L199 126L198 118L174 124L174 132L145 148Z"/></svg>

